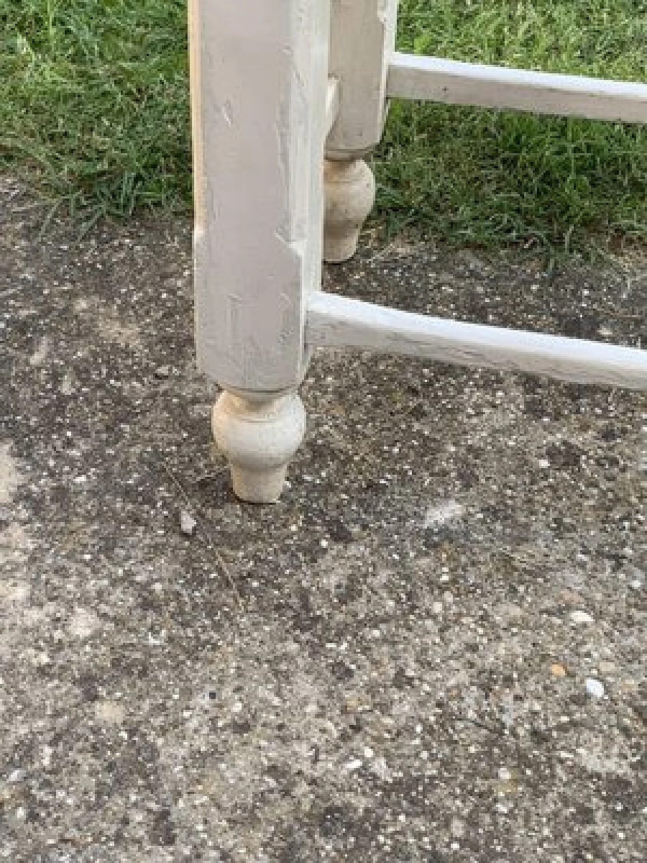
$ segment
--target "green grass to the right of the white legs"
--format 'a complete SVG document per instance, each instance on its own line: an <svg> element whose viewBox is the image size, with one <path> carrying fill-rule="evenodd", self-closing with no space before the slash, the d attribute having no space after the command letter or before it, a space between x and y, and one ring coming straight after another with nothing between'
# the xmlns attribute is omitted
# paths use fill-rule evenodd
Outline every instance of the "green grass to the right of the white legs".
<svg viewBox="0 0 647 863"><path fill-rule="evenodd" d="M647 3L405 0L403 50L647 82ZM638 125L393 104L375 160L390 230L453 243L569 249L590 233L647 239Z"/></svg>

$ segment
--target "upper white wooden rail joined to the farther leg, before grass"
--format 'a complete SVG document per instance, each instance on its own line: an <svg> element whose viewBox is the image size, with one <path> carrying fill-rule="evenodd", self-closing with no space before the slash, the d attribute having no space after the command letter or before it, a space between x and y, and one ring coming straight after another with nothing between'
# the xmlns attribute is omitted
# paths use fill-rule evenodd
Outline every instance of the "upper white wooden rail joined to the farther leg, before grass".
<svg viewBox="0 0 647 863"><path fill-rule="evenodd" d="M647 85L395 53L387 95L483 108L647 123Z"/></svg>

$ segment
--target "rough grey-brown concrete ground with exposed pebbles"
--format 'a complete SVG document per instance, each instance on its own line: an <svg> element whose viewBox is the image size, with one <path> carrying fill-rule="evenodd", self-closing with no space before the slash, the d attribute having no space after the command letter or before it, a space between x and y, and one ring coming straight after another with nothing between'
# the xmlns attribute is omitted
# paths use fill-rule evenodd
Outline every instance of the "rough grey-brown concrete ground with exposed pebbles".
<svg viewBox="0 0 647 863"><path fill-rule="evenodd" d="M242 505L191 225L42 215L0 180L0 858L643 861L644 395L317 355L286 494ZM325 280L647 339L645 255Z"/></svg>

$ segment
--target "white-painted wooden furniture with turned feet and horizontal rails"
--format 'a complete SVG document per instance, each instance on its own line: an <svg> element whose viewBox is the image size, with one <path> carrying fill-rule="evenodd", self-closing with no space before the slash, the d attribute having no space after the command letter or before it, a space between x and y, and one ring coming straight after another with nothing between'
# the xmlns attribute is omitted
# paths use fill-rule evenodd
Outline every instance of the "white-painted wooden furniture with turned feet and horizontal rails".
<svg viewBox="0 0 647 863"><path fill-rule="evenodd" d="M374 204L388 98L647 121L647 85L395 52L397 0L190 0L198 364L236 494L276 501L311 351L355 348L647 390L647 351L321 292Z"/></svg>

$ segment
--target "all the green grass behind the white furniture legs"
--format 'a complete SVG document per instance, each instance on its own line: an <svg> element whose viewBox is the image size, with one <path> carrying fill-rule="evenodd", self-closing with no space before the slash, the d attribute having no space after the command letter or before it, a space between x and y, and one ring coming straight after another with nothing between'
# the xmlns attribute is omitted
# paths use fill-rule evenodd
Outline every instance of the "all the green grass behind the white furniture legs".
<svg viewBox="0 0 647 863"><path fill-rule="evenodd" d="M190 208L185 0L0 0L0 41L0 167L81 219ZM402 0L399 47L647 82L647 3ZM647 239L640 126L397 103L374 163L391 233Z"/></svg>

